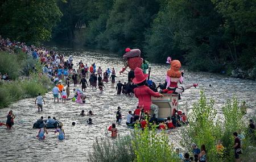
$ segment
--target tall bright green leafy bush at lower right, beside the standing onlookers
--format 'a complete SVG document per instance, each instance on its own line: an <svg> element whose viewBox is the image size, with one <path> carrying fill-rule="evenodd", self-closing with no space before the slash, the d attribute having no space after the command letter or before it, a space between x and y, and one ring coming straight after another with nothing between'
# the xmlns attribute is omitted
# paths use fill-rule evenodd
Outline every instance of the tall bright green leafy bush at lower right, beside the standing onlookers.
<svg viewBox="0 0 256 162"><path fill-rule="evenodd" d="M181 145L191 150L192 143L196 143L199 148L202 144L205 144L209 162L234 161L233 132L242 130L242 134L244 134L247 131L237 98L229 99L225 106L222 107L224 118L217 118L216 110L214 110L214 101L212 99L207 101L203 90L200 93L199 101L194 103L192 113L188 115L189 125L185 126L181 131ZM218 139L222 140L225 148L222 158L220 158L216 150ZM248 143L246 141L248 141L247 138L243 140L243 142ZM245 145L243 149L247 149L250 146L251 144Z"/></svg>

